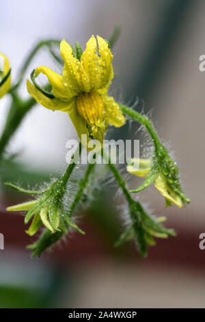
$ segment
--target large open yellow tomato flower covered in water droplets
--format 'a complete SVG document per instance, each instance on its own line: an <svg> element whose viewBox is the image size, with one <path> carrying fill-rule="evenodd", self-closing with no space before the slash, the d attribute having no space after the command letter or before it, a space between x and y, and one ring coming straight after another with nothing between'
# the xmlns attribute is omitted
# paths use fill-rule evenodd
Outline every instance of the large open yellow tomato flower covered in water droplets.
<svg viewBox="0 0 205 322"><path fill-rule="evenodd" d="M52 97L46 97L27 80L29 94L45 108L67 112L79 138L87 134L94 139L104 138L107 125L124 125L118 103L107 96L107 89L113 79L113 55L107 42L92 36L86 44L81 58L74 57L72 47L65 40L61 41L60 52L64 60L62 75L40 66L35 70L35 77L46 75L52 86Z"/></svg>

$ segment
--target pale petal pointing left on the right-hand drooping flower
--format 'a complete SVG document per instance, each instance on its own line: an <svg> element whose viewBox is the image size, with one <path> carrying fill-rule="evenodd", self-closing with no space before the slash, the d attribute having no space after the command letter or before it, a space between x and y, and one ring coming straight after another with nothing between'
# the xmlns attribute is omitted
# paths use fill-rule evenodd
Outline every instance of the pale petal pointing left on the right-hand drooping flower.
<svg viewBox="0 0 205 322"><path fill-rule="evenodd" d="M146 177L151 170L152 160L150 159L131 159L133 164L128 164L126 170L138 177Z"/></svg>

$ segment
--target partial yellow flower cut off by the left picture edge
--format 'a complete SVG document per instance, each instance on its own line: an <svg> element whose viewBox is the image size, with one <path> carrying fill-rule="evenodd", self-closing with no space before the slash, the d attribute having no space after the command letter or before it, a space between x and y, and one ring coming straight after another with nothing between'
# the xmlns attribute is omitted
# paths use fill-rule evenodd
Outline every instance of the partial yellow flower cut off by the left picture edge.
<svg viewBox="0 0 205 322"><path fill-rule="evenodd" d="M11 86L11 69L8 58L0 53L0 58L3 58L3 71L0 71L0 99L5 95Z"/></svg>

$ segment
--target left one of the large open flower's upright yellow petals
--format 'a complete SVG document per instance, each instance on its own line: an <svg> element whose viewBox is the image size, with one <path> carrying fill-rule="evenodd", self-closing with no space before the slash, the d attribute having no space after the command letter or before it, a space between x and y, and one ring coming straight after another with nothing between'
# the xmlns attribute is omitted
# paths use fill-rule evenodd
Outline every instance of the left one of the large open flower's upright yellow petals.
<svg viewBox="0 0 205 322"><path fill-rule="evenodd" d="M60 51L65 62L62 75L64 86L72 92L72 95L77 95L81 91L90 92L90 79L81 62L72 55L72 48L66 40L61 41Z"/></svg>

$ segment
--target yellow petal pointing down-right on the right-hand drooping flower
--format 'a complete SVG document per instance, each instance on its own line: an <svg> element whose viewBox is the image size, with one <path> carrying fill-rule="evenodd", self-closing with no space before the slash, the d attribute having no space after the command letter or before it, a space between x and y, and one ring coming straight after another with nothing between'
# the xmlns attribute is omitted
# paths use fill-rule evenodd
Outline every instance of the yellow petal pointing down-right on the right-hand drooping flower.
<svg viewBox="0 0 205 322"><path fill-rule="evenodd" d="M174 192L163 175L156 175L154 179L154 186L159 191L159 193L161 193L161 195L163 195L167 199L167 201L169 201L170 203L175 203L178 208L182 207L182 199L177 193Z"/></svg>

